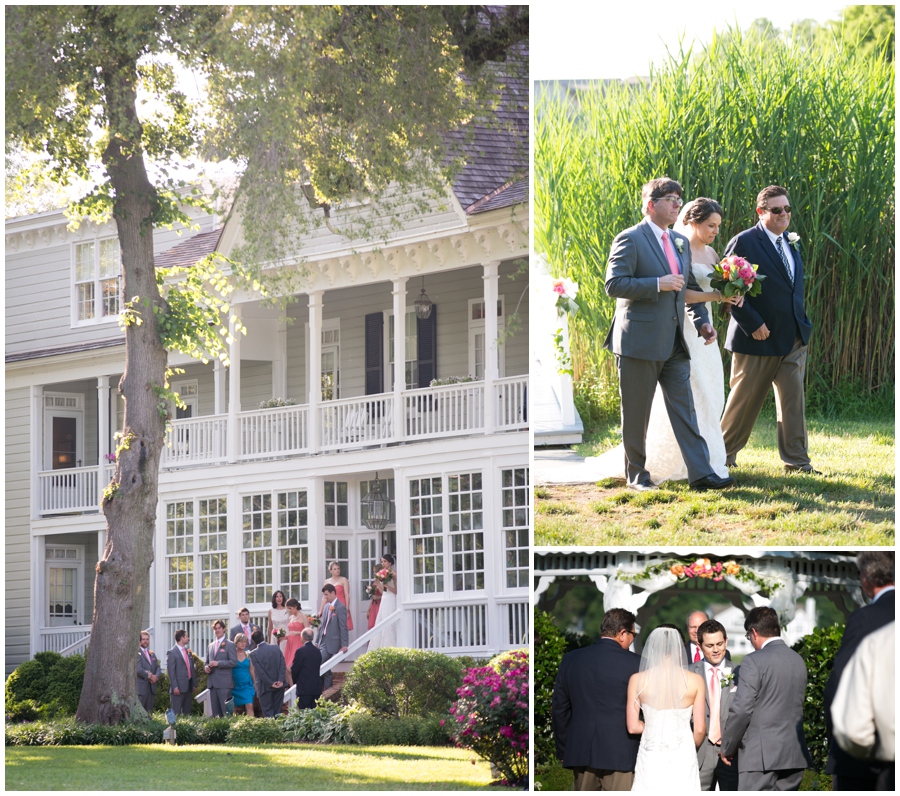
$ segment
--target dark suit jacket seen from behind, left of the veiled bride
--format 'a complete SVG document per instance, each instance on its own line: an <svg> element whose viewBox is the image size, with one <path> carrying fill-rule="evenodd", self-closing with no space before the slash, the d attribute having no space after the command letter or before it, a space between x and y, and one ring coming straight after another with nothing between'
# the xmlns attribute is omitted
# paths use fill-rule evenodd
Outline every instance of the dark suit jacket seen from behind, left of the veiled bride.
<svg viewBox="0 0 900 796"><path fill-rule="evenodd" d="M625 725L628 680L640 655L614 639L565 655L553 688L556 755L566 768L634 771L640 735Z"/></svg>

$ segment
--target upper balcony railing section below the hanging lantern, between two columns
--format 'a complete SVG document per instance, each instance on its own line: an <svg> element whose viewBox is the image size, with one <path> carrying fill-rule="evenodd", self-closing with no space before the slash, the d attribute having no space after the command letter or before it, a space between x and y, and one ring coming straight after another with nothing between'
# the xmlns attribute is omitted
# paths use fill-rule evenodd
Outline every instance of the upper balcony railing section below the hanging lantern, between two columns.
<svg viewBox="0 0 900 796"><path fill-rule="evenodd" d="M403 393L406 438L449 437L484 428L484 382Z"/></svg>

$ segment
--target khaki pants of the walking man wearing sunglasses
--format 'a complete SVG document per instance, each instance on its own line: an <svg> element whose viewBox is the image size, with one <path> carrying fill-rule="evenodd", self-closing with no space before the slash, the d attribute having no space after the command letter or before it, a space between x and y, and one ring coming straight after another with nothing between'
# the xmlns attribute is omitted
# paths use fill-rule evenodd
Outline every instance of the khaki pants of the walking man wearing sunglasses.
<svg viewBox="0 0 900 796"><path fill-rule="evenodd" d="M785 464L805 467L809 461L806 436L806 346L798 337L787 356L757 357L750 354L731 355L731 392L722 415L725 439L725 464L735 463L747 444L769 385L775 386L778 413L778 453Z"/></svg>

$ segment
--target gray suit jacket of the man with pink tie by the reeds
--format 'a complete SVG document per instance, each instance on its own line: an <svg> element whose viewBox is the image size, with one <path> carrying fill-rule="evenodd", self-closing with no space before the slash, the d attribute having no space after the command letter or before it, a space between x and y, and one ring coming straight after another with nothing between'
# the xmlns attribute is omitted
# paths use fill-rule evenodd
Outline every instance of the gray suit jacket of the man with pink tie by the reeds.
<svg viewBox="0 0 900 796"><path fill-rule="evenodd" d="M685 342L685 288L678 292L657 289L659 277L672 272L650 223L645 218L613 241L606 266L606 292L616 299L616 314L603 345L614 354L665 362L672 355L675 335ZM686 287L699 290L691 272L690 242L684 235L669 233ZM675 243L678 240L681 252ZM699 333L709 322L706 309L702 304L689 304L687 309ZM688 350L686 344L684 350Z"/></svg>

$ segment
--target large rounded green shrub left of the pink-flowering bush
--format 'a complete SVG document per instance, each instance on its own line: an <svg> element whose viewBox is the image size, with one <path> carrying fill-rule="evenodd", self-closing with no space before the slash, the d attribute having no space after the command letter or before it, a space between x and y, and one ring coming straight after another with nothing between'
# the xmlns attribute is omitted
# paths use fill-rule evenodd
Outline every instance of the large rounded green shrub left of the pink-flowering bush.
<svg viewBox="0 0 900 796"><path fill-rule="evenodd" d="M453 658L384 647L356 661L344 695L382 716L427 716L445 711L461 683L462 665Z"/></svg>

